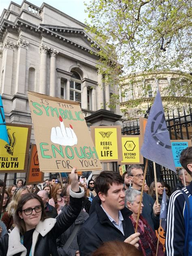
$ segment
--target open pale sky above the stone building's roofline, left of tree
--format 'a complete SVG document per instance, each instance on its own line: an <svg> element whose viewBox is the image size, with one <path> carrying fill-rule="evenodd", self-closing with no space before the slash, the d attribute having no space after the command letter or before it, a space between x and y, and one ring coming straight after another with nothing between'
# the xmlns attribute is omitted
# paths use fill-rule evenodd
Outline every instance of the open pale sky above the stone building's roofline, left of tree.
<svg viewBox="0 0 192 256"><path fill-rule="evenodd" d="M0 15L2 14L3 9L7 9L11 0L0 0ZM12 0L16 4L21 5L22 0ZM34 4L38 7L45 2L53 6L54 8L66 13L67 15L85 23L85 19L88 18L87 13L85 13L84 2L90 3L90 0L28 0L31 4Z"/></svg>

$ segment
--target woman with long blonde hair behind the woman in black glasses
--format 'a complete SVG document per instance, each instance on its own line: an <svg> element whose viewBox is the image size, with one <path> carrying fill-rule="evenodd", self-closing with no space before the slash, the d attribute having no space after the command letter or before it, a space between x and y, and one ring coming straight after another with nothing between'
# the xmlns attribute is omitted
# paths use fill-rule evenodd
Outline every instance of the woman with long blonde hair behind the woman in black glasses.
<svg viewBox="0 0 192 256"><path fill-rule="evenodd" d="M15 214L15 211L17 209L17 204L19 199L24 196L25 194L29 194L29 190L27 187L21 187L21 188L16 188L15 192L13 194L12 200L7 205L6 207L6 212L4 213L2 217L2 221L6 225L7 230L13 229L14 228L14 222L13 222L13 217Z"/></svg>

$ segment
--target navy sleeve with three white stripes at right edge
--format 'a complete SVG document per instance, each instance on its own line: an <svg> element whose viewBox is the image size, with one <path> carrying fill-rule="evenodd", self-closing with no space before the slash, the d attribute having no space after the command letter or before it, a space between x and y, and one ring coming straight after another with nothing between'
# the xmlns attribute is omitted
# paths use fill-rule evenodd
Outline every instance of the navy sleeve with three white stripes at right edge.
<svg viewBox="0 0 192 256"><path fill-rule="evenodd" d="M166 222L166 255L183 256L185 223L183 212L185 199L180 190L175 191L169 200Z"/></svg>

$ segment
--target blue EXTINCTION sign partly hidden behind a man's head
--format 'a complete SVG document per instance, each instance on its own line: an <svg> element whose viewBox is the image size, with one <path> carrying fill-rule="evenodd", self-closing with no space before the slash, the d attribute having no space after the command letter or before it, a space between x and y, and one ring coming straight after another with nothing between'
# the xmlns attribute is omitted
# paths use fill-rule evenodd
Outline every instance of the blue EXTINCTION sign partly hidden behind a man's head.
<svg viewBox="0 0 192 256"><path fill-rule="evenodd" d="M183 168L179 162L179 158L183 149L191 146L191 140L171 140L171 149L176 168Z"/></svg>

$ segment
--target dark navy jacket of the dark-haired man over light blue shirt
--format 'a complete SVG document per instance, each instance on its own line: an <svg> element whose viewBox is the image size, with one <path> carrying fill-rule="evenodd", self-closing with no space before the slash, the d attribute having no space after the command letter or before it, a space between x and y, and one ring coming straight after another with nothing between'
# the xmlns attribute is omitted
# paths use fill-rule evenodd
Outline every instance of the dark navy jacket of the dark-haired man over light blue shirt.
<svg viewBox="0 0 192 256"><path fill-rule="evenodd" d="M132 212L124 208L121 210L121 213L124 218L124 235L111 223L100 204L95 204L95 212L86 220L77 235L81 256L91 255L103 242L124 241L127 237L134 234L134 228L129 218Z"/></svg>

